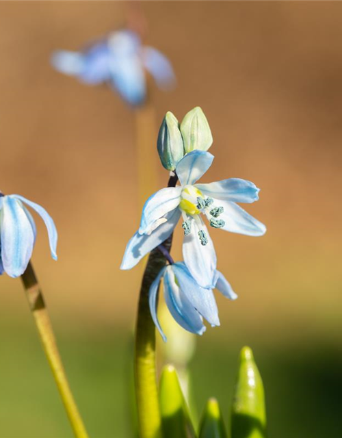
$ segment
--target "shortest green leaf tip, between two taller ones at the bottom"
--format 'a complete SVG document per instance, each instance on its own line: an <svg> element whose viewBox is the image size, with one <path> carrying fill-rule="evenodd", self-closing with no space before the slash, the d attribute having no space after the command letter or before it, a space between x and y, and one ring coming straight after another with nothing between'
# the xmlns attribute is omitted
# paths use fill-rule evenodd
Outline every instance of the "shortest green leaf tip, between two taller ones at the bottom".
<svg viewBox="0 0 342 438"><path fill-rule="evenodd" d="M218 400L209 398L200 422L200 438L227 438Z"/></svg>

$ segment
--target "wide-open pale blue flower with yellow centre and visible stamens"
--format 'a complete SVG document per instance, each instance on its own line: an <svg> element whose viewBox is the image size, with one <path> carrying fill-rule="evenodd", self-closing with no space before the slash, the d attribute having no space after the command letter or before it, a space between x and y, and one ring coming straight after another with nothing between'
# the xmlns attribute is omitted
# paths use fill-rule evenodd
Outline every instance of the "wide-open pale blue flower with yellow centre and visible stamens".
<svg viewBox="0 0 342 438"><path fill-rule="evenodd" d="M257 201L256 185L239 178L196 184L212 162L213 155L205 151L192 151L181 159L176 166L181 185L163 188L148 198L140 228L127 244L121 269L133 268L144 255L166 240L182 217L185 264L199 285L211 288L216 254L202 215L213 228L252 236L265 233L265 225L236 204Z"/></svg>

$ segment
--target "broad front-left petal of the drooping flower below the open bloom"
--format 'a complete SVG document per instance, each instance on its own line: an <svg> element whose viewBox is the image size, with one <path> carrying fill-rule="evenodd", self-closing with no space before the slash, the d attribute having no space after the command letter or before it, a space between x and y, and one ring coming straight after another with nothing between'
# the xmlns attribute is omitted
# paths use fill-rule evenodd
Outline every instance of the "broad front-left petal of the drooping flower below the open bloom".
<svg viewBox="0 0 342 438"><path fill-rule="evenodd" d="M164 274L164 298L174 320L183 329L195 333L195 335L202 335L205 332L205 325L200 313L196 311L192 302L176 285L171 266L166 268Z"/></svg>

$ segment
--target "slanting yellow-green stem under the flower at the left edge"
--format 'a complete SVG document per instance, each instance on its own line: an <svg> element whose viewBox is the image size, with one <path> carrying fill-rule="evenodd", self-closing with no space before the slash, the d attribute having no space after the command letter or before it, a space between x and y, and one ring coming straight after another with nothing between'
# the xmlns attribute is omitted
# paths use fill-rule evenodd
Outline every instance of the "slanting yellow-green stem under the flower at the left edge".
<svg viewBox="0 0 342 438"><path fill-rule="evenodd" d="M58 391L60 391L60 395L62 396L62 401L71 426L73 427L75 437L88 438L86 428L83 424L81 416L79 415L68 379L66 378L60 353L58 352L55 341L55 336L53 335L49 313L47 312L47 307L45 306L44 298L42 296L42 290L40 289L31 263L28 264L25 272L21 276L21 279L23 281L25 294L29 302L29 308L34 316L34 321L36 322L40 341L42 342L45 355L49 361Z"/></svg>

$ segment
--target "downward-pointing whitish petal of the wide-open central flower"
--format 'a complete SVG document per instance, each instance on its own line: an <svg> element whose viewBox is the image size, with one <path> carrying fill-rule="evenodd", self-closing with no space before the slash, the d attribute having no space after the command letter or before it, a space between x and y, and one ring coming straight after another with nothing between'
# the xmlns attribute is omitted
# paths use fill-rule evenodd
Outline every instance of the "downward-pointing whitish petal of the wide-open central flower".
<svg viewBox="0 0 342 438"><path fill-rule="evenodd" d="M187 269L197 283L202 287L214 287L214 276L216 270L216 253L213 241L210 238L205 225L202 226L207 235L207 245L202 245L198 237L198 224L195 220L191 222L191 233L184 236L183 258Z"/></svg>

